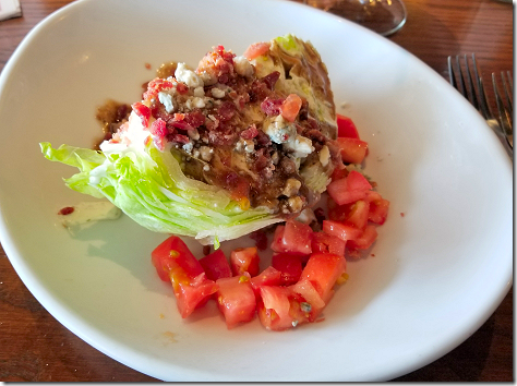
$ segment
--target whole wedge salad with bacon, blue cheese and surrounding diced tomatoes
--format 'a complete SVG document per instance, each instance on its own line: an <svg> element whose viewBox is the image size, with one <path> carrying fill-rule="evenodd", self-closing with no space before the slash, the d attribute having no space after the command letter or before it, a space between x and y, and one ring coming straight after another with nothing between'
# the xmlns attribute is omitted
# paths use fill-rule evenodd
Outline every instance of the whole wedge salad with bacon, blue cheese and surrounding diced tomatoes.
<svg viewBox="0 0 517 386"><path fill-rule="evenodd" d="M371 248L389 206L362 173L368 143L336 114L320 55L292 35L242 56L216 46L195 69L177 63L147 83L99 150L40 146L79 168L69 188L172 234L152 263L181 316L216 299L229 328L255 315L273 330L321 321L346 258ZM245 234L256 246L218 249ZM182 237L215 251L194 256Z"/></svg>

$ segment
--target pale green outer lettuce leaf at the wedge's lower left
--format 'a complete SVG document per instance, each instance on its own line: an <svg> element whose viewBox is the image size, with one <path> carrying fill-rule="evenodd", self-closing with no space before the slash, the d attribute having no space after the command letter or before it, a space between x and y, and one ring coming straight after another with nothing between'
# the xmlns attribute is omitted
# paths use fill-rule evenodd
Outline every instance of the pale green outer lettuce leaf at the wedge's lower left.
<svg viewBox="0 0 517 386"><path fill-rule="evenodd" d="M53 148L48 142L40 147L45 158L80 170L64 179L70 189L108 198L152 231L212 244L282 220L267 208L242 209L227 191L188 178L170 152L151 147L106 156L69 145Z"/></svg>

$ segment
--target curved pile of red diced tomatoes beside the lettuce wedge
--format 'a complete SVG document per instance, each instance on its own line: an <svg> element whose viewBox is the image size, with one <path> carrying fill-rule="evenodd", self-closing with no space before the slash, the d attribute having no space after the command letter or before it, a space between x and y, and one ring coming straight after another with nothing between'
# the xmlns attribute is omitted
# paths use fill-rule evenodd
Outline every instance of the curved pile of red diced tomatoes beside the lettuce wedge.
<svg viewBox="0 0 517 386"><path fill-rule="evenodd" d="M338 116L337 123L347 128L339 130L340 137L359 140L349 118ZM356 152L348 146L341 150ZM160 243L152 262L161 280L172 285L181 316L214 299L228 328L254 318L268 330L322 322L336 286L348 279L347 258L368 253L389 208L374 183L356 169L348 162L336 167L326 209L318 207L313 216L298 216L270 229L270 262L261 258L264 230L252 237L256 246L237 248L229 256L217 249L197 260L177 236Z"/></svg>

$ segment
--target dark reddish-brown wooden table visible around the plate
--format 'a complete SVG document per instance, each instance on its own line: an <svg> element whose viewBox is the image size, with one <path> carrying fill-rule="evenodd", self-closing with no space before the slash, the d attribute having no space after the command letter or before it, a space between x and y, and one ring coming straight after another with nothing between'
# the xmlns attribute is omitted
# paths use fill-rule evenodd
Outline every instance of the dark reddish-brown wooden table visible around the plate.
<svg viewBox="0 0 517 386"><path fill-rule="evenodd" d="M486 77L490 72L513 69L512 4L496 0L405 1L408 21L389 39L444 77L446 57L456 53L476 52ZM36 23L69 2L21 0L23 17L0 22L0 69ZM510 290L488 322L461 346L395 381L513 379ZM156 379L111 360L59 324L28 292L0 246L0 381Z"/></svg>

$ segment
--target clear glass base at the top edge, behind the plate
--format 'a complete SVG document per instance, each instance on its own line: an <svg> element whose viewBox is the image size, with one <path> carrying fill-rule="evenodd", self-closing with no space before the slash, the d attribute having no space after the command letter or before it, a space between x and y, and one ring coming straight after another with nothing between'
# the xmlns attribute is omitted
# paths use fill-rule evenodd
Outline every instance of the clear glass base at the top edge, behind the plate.
<svg viewBox="0 0 517 386"><path fill-rule="evenodd" d="M402 0L303 0L303 3L342 16L383 36L396 33L407 19Z"/></svg>

